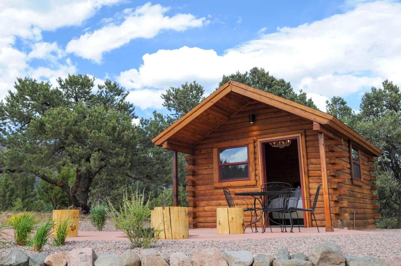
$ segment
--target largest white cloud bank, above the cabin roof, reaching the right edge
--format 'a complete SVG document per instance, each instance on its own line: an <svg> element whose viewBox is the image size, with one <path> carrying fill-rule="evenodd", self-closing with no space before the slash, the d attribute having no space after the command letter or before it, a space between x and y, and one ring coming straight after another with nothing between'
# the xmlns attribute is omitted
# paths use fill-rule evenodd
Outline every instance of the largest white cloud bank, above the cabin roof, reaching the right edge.
<svg viewBox="0 0 401 266"><path fill-rule="evenodd" d="M360 3L344 14L278 28L221 55L186 46L158 50L145 54L138 69L120 73L118 81L128 88L155 88L154 98L161 88L195 79L211 92L223 74L257 66L314 95L322 108L325 98L378 86L384 79L401 84L399 14L400 3Z"/></svg>

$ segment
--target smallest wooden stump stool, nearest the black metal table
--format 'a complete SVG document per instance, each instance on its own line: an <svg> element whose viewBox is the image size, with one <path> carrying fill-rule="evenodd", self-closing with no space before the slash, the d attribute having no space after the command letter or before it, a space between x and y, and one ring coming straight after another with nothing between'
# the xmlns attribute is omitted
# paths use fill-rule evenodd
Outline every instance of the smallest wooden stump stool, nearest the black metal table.
<svg viewBox="0 0 401 266"><path fill-rule="evenodd" d="M217 234L244 234L242 208L217 208Z"/></svg>

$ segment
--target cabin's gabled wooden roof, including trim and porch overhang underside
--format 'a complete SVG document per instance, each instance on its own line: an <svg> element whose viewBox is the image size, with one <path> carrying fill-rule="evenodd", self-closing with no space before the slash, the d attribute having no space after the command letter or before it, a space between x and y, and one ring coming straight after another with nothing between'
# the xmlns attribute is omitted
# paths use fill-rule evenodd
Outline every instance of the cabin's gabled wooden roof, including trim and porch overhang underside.
<svg viewBox="0 0 401 266"><path fill-rule="evenodd" d="M375 145L332 115L232 80L157 135L152 142L166 149L192 154L197 143L241 108L255 101L319 123L324 128L352 140L372 155L382 154Z"/></svg>

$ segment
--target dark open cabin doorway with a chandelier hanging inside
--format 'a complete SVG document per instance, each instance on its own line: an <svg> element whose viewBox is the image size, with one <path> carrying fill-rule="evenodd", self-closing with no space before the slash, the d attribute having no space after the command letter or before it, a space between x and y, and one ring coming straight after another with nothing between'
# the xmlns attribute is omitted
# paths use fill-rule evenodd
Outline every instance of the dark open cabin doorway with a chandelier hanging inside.
<svg viewBox="0 0 401 266"><path fill-rule="evenodd" d="M300 152L300 138L280 138L263 141L263 183L270 182L285 182L291 185L294 189L291 199L299 198L298 207L303 207L302 195L303 182L302 182L302 161ZM291 201L290 201L291 202ZM298 214L298 218L297 218ZM297 212L292 214L292 222L294 225L304 225L304 212ZM283 214L269 213L270 219L279 222L279 218L283 218ZM290 217L288 214L285 216L286 224L290 224Z"/></svg>

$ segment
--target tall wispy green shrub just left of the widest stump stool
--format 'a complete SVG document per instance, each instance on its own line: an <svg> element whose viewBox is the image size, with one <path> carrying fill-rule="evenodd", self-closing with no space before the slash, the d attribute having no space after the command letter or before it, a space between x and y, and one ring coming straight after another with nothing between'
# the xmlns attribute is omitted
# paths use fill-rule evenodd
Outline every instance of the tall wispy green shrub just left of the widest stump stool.
<svg viewBox="0 0 401 266"><path fill-rule="evenodd" d="M144 193L123 194L119 211L109 202L109 215L115 224L115 228L122 230L130 240L131 248L148 248L155 243L154 228L147 228L150 224L149 199L145 200Z"/></svg>

